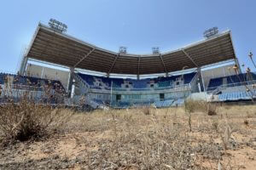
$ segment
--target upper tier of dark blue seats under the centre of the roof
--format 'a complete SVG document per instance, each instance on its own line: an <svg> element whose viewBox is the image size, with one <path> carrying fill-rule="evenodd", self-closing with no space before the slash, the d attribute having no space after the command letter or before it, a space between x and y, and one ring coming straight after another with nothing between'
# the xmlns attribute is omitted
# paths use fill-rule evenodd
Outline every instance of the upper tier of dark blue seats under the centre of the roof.
<svg viewBox="0 0 256 170"><path fill-rule="evenodd" d="M173 86L173 82L177 81L178 78L182 78L179 76L172 77L157 77L157 78L147 78L142 80L135 79L122 79L122 78L108 78L108 77L96 77L90 76L82 73L78 73L79 77L81 77L85 82L90 85L90 88L95 89L107 89L109 90L111 84L113 84L112 88L132 88L134 90L143 90L143 88L152 88L150 85L154 85L154 88L165 88ZM184 74L183 75L183 83L188 84L192 81L193 77L195 77L195 72Z"/></svg>

